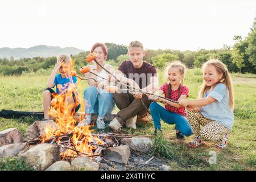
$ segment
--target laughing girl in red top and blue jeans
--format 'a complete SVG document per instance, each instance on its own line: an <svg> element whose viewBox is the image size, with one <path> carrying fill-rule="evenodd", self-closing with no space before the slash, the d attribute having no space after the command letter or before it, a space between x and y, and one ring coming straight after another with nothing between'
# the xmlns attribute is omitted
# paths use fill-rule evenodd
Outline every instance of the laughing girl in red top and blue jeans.
<svg viewBox="0 0 256 182"><path fill-rule="evenodd" d="M185 67L179 61L171 63L167 67L169 83L163 84L159 89L159 95L164 94L164 97L174 101L180 101L188 97L187 86L182 85ZM165 108L156 102L150 104L150 113L155 125L155 134L161 130L160 119L170 125L176 125L176 137L183 138L192 134L191 126L186 118L184 107L158 98L157 101L164 102Z"/></svg>

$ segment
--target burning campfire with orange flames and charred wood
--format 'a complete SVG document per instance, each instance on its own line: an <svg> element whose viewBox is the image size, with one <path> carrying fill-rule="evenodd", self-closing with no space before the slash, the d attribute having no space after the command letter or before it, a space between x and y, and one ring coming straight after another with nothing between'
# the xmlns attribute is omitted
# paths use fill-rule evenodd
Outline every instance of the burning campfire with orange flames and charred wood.
<svg viewBox="0 0 256 182"><path fill-rule="evenodd" d="M92 134L90 125L76 127L76 119L73 115L75 111L71 111L64 96L72 96L72 92L76 92L76 86L69 84L59 96L53 96L51 105L57 111L56 126L47 125L44 128L44 134L34 140L28 140L28 144L51 143L60 146L61 159L76 158L79 155L98 156L101 155L103 149L118 146L118 140L111 134ZM81 121L81 118L79 119Z"/></svg>

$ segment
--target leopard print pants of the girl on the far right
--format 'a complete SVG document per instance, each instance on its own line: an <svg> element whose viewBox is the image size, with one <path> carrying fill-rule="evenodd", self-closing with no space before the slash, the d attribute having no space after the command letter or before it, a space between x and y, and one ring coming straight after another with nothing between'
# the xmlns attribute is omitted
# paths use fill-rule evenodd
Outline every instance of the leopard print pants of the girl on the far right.
<svg viewBox="0 0 256 182"><path fill-rule="evenodd" d="M200 111L187 111L187 118L193 133L205 141L221 142L225 134L230 131L228 127L225 127L220 122L205 118ZM202 129L200 125L203 126Z"/></svg>

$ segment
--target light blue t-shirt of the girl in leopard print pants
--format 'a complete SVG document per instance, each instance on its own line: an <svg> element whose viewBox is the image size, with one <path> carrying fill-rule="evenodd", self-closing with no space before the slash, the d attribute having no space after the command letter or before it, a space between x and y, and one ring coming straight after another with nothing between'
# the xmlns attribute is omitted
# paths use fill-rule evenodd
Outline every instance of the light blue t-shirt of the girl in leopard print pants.
<svg viewBox="0 0 256 182"><path fill-rule="evenodd" d="M201 107L201 113L205 118L220 122L222 125L232 129L234 122L233 110L229 108L229 90L225 84L217 84L212 92L205 93L204 98L213 97L215 102Z"/></svg>

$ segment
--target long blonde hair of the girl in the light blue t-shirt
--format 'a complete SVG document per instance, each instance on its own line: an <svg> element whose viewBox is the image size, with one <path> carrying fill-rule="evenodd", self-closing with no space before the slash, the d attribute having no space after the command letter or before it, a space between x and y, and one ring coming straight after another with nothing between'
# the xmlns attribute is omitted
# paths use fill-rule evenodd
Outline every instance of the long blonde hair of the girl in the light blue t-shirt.
<svg viewBox="0 0 256 182"><path fill-rule="evenodd" d="M202 69L207 65L213 65L218 73L222 73L222 77L220 79L220 83L225 84L226 87L228 87L229 90L229 107L230 109L234 109L234 91L232 86L232 79L228 72L228 68L224 63L222 63L220 60L217 59L210 59L207 62L203 64ZM199 98L204 98L204 94L207 92L207 90L210 89L210 86L207 86L205 81L203 82L203 85L201 86L201 90L199 92Z"/></svg>

